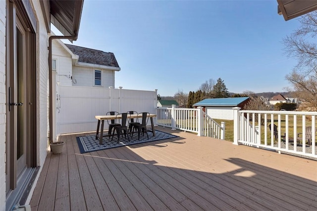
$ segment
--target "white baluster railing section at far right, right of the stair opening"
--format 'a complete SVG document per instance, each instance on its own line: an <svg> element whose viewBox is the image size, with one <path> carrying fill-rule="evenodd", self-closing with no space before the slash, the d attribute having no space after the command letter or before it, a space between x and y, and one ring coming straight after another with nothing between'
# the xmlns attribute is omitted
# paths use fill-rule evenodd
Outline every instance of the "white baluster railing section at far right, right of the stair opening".
<svg viewBox="0 0 317 211"><path fill-rule="evenodd" d="M233 109L234 144L317 158L317 112L240 111L239 107ZM312 127L310 140L305 136L307 127Z"/></svg>

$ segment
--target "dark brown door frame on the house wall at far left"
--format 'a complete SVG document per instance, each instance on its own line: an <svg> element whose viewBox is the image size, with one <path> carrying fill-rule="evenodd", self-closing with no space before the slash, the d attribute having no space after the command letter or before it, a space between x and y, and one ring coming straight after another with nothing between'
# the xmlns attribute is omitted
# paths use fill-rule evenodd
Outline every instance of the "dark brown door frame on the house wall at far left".
<svg viewBox="0 0 317 211"><path fill-rule="evenodd" d="M13 103L11 86L14 86L14 71L16 71L16 27L17 21L21 22L25 30L25 90L24 100L24 130L26 138L26 165L27 168L37 167L37 118L36 118L36 95L37 95L37 66L36 66L36 30L30 17L35 17L30 1L6 1L6 193L17 188L17 130L15 127L17 106ZM31 15L30 15L31 14ZM32 15L33 14L33 15ZM17 20L18 19L18 20ZM34 20L33 20L34 21ZM15 90L13 90L15 92ZM14 93L13 93L14 96ZM22 173L21 173L22 174ZM22 178L23 179L23 178Z"/></svg>

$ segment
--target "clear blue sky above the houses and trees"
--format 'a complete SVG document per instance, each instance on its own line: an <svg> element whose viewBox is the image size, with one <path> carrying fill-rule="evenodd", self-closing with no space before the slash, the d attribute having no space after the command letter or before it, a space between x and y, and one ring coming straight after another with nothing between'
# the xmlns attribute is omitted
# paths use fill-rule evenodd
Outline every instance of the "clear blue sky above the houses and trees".
<svg viewBox="0 0 317 211"><path fill-rule="evenodd" d="M114 53L115 87L173 96L221 78L229 92L281 92L296 64L282 39L299 26L276 0L85 0L73 44Z"/></svg>

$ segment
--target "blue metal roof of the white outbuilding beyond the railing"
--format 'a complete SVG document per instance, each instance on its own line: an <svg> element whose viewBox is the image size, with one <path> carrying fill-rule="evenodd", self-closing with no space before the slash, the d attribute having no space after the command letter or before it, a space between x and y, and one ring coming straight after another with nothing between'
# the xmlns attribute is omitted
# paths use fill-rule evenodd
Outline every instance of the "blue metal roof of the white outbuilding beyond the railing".
<svg viewBox="0 0 317 211"><path fill-rule="evenodd" d="M237 106L249 97L228 97L228 98L211 98L204 99L194 106Z"/></svg>

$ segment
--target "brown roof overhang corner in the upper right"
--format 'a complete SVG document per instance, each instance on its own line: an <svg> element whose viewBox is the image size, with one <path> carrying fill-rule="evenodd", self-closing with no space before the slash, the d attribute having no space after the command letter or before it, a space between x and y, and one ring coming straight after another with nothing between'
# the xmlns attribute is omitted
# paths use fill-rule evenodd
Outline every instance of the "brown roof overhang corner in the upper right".
<svg viewBox="0 0 317 211"><path fill-rule="evenodd" d="M290 20L317 9L317 0L277 0L277 12Z"/></svg>

